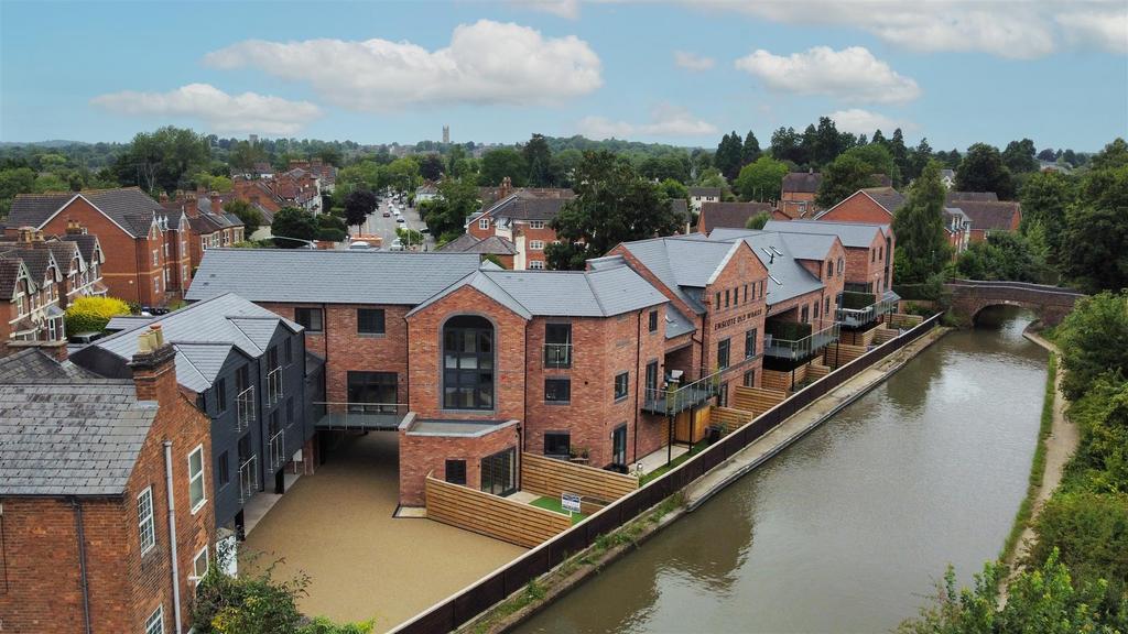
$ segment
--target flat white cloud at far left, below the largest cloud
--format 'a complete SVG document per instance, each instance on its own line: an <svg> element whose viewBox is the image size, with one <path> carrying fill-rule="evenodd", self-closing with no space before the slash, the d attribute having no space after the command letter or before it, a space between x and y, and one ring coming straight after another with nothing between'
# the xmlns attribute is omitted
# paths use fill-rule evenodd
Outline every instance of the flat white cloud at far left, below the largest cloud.
<svg viewBox="0 0 1128 634"><path fill-rule="evenodd" d="M190 83L168 93L123 90L90 103L124 115L184 116L202 120L214 132L292 134L320 116L309 102L244 93L228 95L208 83Z"/></svg>

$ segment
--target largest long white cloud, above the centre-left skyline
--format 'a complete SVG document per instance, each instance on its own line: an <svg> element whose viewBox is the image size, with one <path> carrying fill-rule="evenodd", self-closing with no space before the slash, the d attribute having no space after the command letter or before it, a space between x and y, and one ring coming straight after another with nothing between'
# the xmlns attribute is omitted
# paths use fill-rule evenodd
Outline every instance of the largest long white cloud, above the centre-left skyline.
<svg viewBox="0 0 1128 634"><path fill-rule="evenodd" d="M255 68L310 85L344 108L387 112L451 104L555 104L602 85L588 43L512 23L459 25L446 49L387 39L249 39L209 53L220 69Z"/></svg>

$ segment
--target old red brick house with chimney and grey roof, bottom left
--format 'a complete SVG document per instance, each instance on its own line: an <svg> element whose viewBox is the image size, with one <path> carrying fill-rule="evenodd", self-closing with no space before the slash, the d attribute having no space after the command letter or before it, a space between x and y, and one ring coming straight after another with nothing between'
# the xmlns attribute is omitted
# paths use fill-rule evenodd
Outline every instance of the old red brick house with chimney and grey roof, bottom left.
<svg viewBox="0 0 1128 634"><path fill-rule="evenodd" d="M5 632L187 628L214 560L209 421L177 389L173 347L143 336L132 380L39 350L0 360Z"/></svg>

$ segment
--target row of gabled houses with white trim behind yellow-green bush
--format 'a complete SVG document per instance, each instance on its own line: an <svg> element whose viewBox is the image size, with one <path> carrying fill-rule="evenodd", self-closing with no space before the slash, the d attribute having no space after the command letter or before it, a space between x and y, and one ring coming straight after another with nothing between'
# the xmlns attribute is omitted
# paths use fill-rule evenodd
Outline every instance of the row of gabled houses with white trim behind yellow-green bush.
<svg viewBox="0 0 1128 634"><path fill-rule="evenodd" d="M0 241L0 356L41 344L65 352L63 310L80 297L106 293L97 237L63 237L45 240L25 229Z"/></svg>

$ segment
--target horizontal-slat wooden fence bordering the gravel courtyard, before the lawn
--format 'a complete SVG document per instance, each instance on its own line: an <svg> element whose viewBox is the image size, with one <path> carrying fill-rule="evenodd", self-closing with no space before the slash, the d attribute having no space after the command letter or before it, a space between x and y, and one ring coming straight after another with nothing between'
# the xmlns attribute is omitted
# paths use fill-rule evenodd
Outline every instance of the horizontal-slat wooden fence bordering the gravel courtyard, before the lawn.
<svg viewBox="0 0 1128 634"><path fill-rule="evenodd" d="M426 517L532 548L564 532L572 518L426 476Z"/></svg>

